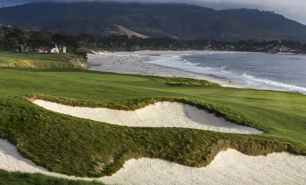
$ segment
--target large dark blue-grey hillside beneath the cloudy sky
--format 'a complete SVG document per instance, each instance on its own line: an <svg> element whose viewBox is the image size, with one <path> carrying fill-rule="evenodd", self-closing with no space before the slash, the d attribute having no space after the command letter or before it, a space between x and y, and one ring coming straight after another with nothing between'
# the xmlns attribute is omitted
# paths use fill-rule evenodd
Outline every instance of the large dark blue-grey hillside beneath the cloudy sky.
<svg viewBox="0 0 306 185"><path fill-rule="evenodd" d="M13 12L13 13L12 13ZM20 18L22 17L22 19ZM109 34L117 25L149 37L306 42L306 25L274 12L187 4L32 3L0 9L0 23L69 33Z"/></svg>

